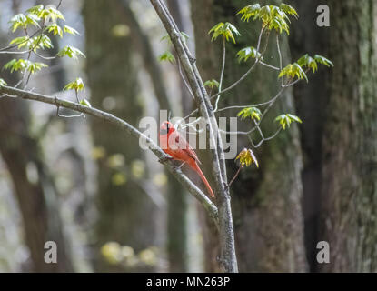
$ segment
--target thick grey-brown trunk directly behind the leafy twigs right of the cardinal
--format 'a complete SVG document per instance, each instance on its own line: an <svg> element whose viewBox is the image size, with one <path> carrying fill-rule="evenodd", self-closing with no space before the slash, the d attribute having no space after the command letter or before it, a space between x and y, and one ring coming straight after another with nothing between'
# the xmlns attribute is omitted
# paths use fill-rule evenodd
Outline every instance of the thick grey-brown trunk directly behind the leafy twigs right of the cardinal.
<svg viewBox="0 0 377 291"><path fill-rule="evenodd" d="M222 45L220 41L211 43L208 31L221 21L236 25L242 37L237 45L226 45L227 58L223 88L233 84L250 63L238 64L235 54L247 45L255 45L260 25L244 24L235 15L245 4L238 0L216 1L192 0L192 17L195 32L196 57L204 80L219 80L221 70ZM271 34L270 45L265 59L278 65L275 34ZM263 40L264 42L264 40ZM289 61L286 39L282 42L284 64ZM277 74L266 68L257 68L252 75L230 93L222 96L223 105L256 104L273 97L278 90ZM233 112L232 115L236 115ZM273 133L273 117L281 113L293 113L291 92L285 93L278 105L266 115L263 131ZM252 127L251 124L247 128ZM268 134L269 135L269 134ZM238 139L241 150L248 146L245 138ZM250 146L249 146L250 147ZM235 227L236 251L239 268L250 271L306 271L303 247L302 216L302 156L298 142L298 131L293 126L271 142L254 151L261 168L243 169L233 183L233 219ZM233 160L228 163L228 175L232 177L237 170ZM210 233L213 233L210 231ZM216 244L213 236L207 237L207 250L214 262L213 249ZM213 264L207 264L208 271L215 271Z"/></svg>

